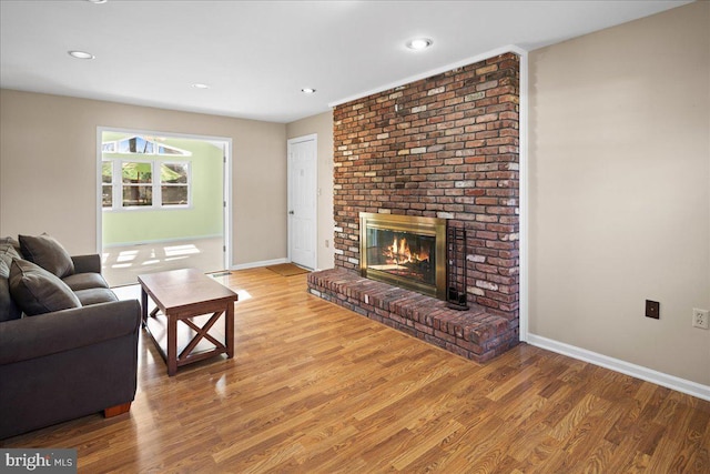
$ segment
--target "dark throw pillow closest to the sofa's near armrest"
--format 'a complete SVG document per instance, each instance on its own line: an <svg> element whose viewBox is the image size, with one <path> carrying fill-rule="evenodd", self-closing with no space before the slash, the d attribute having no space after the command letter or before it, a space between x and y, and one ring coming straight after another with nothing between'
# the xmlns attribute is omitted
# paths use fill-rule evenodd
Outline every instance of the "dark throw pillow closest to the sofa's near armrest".
<svg viewBox="0 0 710 474"><path fill-rule="evenodd" d="M27 260L10 265L10 294L28 316L81 307L81 302L57 275Z"/></svg>

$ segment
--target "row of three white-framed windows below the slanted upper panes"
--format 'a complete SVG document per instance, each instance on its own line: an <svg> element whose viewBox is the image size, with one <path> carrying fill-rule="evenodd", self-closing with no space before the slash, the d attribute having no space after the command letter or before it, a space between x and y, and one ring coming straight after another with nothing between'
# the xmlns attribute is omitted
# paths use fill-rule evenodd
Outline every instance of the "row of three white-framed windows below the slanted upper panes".
<svg viewBox="0 0 710 474"><path fill-rule="evenodd" d="M154 179L160 170L160 179ZM121 177L120 181L115 177ZM104 160L104 210L190 206L190 162Z"/></svg>

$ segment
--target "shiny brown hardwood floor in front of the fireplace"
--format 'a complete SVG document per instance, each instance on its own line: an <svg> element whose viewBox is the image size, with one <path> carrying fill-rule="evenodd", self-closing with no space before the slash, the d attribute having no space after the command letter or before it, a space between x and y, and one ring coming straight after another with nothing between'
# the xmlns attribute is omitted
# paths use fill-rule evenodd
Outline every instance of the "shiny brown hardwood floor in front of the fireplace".
<svg viewBox="0 0 710 474"><path fill-rule="evenodd" d="M305 275L225 280L233 360L168 377L142 334L129 414L0 444L74 447L87 473L710 472L710 402L525 344L477 365L310 295Z"/></svg>

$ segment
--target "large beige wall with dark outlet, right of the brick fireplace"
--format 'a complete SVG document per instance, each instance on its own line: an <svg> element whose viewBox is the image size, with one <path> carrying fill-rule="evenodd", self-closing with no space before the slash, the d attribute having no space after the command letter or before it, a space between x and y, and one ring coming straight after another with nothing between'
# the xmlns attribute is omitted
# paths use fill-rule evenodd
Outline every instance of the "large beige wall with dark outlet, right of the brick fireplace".
<svg viewBox="0 0 710 474"><path fill-rule="evenodd" d="M704 385L708 24L697 2L529 56L529 332Z"/></svg>

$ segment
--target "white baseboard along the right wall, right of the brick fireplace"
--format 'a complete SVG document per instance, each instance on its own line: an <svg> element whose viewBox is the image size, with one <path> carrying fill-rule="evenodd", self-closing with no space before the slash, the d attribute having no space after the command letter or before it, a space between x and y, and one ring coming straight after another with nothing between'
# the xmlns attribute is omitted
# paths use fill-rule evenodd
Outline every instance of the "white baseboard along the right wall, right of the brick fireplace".
<svg viewBox="0 0 710 474"><path fill-rule="evenodd" d="M558 354L589 362L590 364L599 365L605 369L620 372L622 374L641 379L643 381L651 382L657 385L676 390L678 392L697 396L698 399L707 400L710 402L710 386L708 385L702 385L689 380L668 375L662 372L657 372L651 369L643 367L641 365L631 364L630 362L609 357L604 354L587 351L586 349L569 345L564 342L554 341L551 339L542 337L536 334L528 333L527 343L530 345L535 345L536 347L546 349Z"/></svg>

